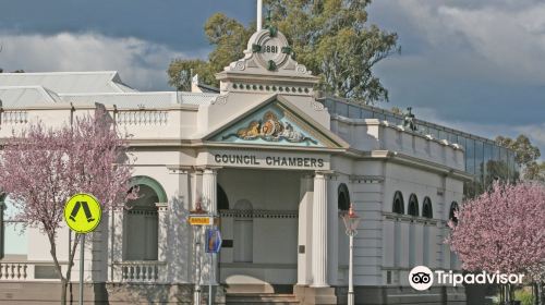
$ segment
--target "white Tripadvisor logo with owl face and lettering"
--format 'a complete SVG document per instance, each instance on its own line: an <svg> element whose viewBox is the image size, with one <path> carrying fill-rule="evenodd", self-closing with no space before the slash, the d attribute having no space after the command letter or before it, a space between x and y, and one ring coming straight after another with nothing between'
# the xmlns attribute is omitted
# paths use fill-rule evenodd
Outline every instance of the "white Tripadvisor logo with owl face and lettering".
<svg viewBox="0 0 545 305"><path fill-rule="evenodd" d="M494 273L480 272L480 273L455 273L452 270L435 270L432 271L426 266L416 266L409 272L409 283L415 290L429 289L434 283L439 285L460 284L521 284L524 274L516 273Z"/></svg>

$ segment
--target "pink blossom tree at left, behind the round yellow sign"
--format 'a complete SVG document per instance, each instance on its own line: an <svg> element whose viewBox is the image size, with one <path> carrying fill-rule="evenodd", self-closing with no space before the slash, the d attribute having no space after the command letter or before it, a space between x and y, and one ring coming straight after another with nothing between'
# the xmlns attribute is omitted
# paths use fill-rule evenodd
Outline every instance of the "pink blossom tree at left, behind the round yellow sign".
<svg viewBox="0 0 545 305"><path fill-rule="evenodd" d="M7 139L1 151L0 187L15 206L15 217L47 235L62 283L62 304L80 241L76 234L63 274L56 241L66 200L89 193L107 210L128 196L132 167L126 136L120 136L108 119L106 111L97 110L94 118L86 115L58 130L33 124Z"/></svg>

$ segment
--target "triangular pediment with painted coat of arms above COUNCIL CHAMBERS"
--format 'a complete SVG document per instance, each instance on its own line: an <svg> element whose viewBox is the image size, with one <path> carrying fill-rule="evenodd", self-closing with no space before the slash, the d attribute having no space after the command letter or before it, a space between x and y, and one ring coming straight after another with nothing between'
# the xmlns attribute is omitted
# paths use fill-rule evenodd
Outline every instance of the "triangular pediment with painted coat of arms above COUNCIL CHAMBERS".
<svg viewBox="0 0 545 305"><path fill-rule="evenodd" d="M347 144L280 96L250 109L205 137L207 142L316 148Z"/></svg>

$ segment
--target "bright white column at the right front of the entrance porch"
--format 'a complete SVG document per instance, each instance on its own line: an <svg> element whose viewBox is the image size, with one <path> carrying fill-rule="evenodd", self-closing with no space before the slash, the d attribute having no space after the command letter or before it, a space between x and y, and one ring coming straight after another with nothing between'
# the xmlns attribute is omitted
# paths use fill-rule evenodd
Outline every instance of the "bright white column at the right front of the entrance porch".
<svg viewBox="0 0 545 305"><path fill-rule="evenodd" d="M313 288L327 284L327 181L324 172L314 175L312 205L312 276Z"/></svg>

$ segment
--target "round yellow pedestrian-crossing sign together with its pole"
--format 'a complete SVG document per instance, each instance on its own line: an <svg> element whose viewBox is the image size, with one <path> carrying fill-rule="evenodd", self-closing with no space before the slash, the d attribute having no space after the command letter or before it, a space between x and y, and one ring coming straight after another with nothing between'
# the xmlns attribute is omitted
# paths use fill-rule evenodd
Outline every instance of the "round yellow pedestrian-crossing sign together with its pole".
<svg viewBox="0 0 545 305"><path fill-rule="evenodd" d="M83 211L82 211L83 209ZM85 258L85 234L95 231L100 224L102 208L95 196L75 194L64 206L64 221L72 231L80 234L80 305L83 305L83 271Z"/></svg>

